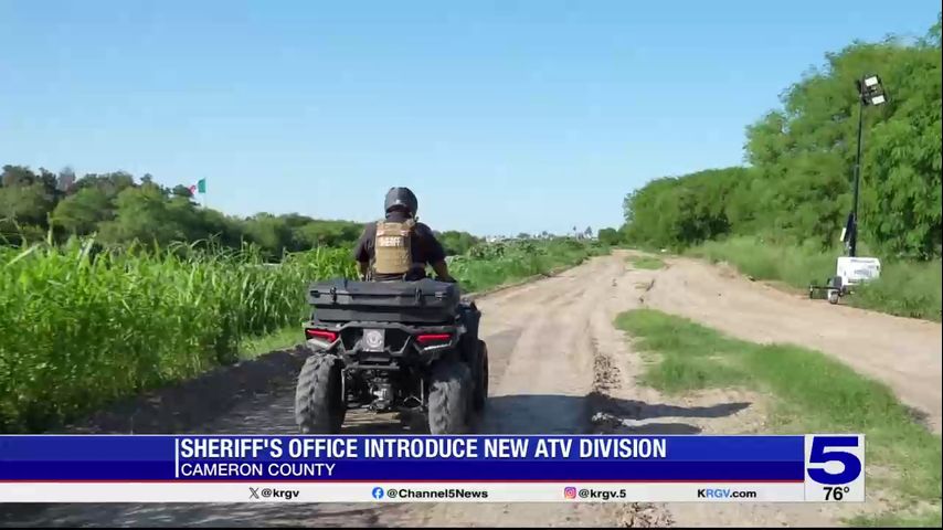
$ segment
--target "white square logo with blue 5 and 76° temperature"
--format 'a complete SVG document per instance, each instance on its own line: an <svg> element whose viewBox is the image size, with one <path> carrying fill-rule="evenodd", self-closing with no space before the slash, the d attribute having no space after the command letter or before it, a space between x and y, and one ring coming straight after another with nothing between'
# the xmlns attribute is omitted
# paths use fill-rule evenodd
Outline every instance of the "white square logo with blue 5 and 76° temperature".
<svg viewBox="0 0 943 530"><path fill-rule="evenodd" d="M805 485L806 500L863 502L865 435L807 435Z"/></svg>

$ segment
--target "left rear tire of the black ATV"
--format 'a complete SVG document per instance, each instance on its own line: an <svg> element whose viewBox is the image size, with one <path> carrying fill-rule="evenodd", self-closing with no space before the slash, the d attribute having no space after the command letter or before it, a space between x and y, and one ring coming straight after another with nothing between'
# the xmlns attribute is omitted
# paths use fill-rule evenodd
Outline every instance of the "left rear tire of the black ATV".
<svg viewBox="0 0 943 530"><path fill-rule="evenodd" d="M347 415L340 358L316 353L305 361L295 389L295 423L304 434L338 434Z"/></svg>

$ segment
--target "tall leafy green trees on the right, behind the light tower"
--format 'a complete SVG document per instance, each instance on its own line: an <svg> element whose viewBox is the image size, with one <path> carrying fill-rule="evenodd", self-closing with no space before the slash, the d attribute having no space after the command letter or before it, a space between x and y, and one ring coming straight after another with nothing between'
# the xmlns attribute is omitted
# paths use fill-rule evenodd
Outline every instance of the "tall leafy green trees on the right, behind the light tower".
<svg viewBox="0 0 943 530"><path fill-rule="evenodd" d="M888 255L941 255L941 22L913 42L855 42L826 54L746 128L743 167L664 177L624 200L619 233L639 245L686 247L732 234L836 244L851 209L858 92L879 74L888 103L865 108L859 237Z"/></svg>

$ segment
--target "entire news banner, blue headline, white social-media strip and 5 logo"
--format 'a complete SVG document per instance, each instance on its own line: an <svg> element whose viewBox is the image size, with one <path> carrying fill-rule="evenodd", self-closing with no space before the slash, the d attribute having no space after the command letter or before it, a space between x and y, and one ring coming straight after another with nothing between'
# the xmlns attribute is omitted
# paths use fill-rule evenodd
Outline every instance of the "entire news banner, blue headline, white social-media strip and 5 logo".
<svg viewBox="0 0 943 530"><path fill-rule="evenodd" d="M863 435L0 436L2 502L861 502Z"/></svg>

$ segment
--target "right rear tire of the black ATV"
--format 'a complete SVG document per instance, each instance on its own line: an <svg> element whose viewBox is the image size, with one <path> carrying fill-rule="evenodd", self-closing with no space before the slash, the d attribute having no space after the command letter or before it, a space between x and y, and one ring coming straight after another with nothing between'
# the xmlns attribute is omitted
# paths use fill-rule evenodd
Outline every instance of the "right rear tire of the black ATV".
<svg viewBox="0 0 943 530"><path fill-rule="evenodd" d="M472 371L457 360L442 360L432 371L428 392L431 434L465 434L470 418Z"/></svg>

